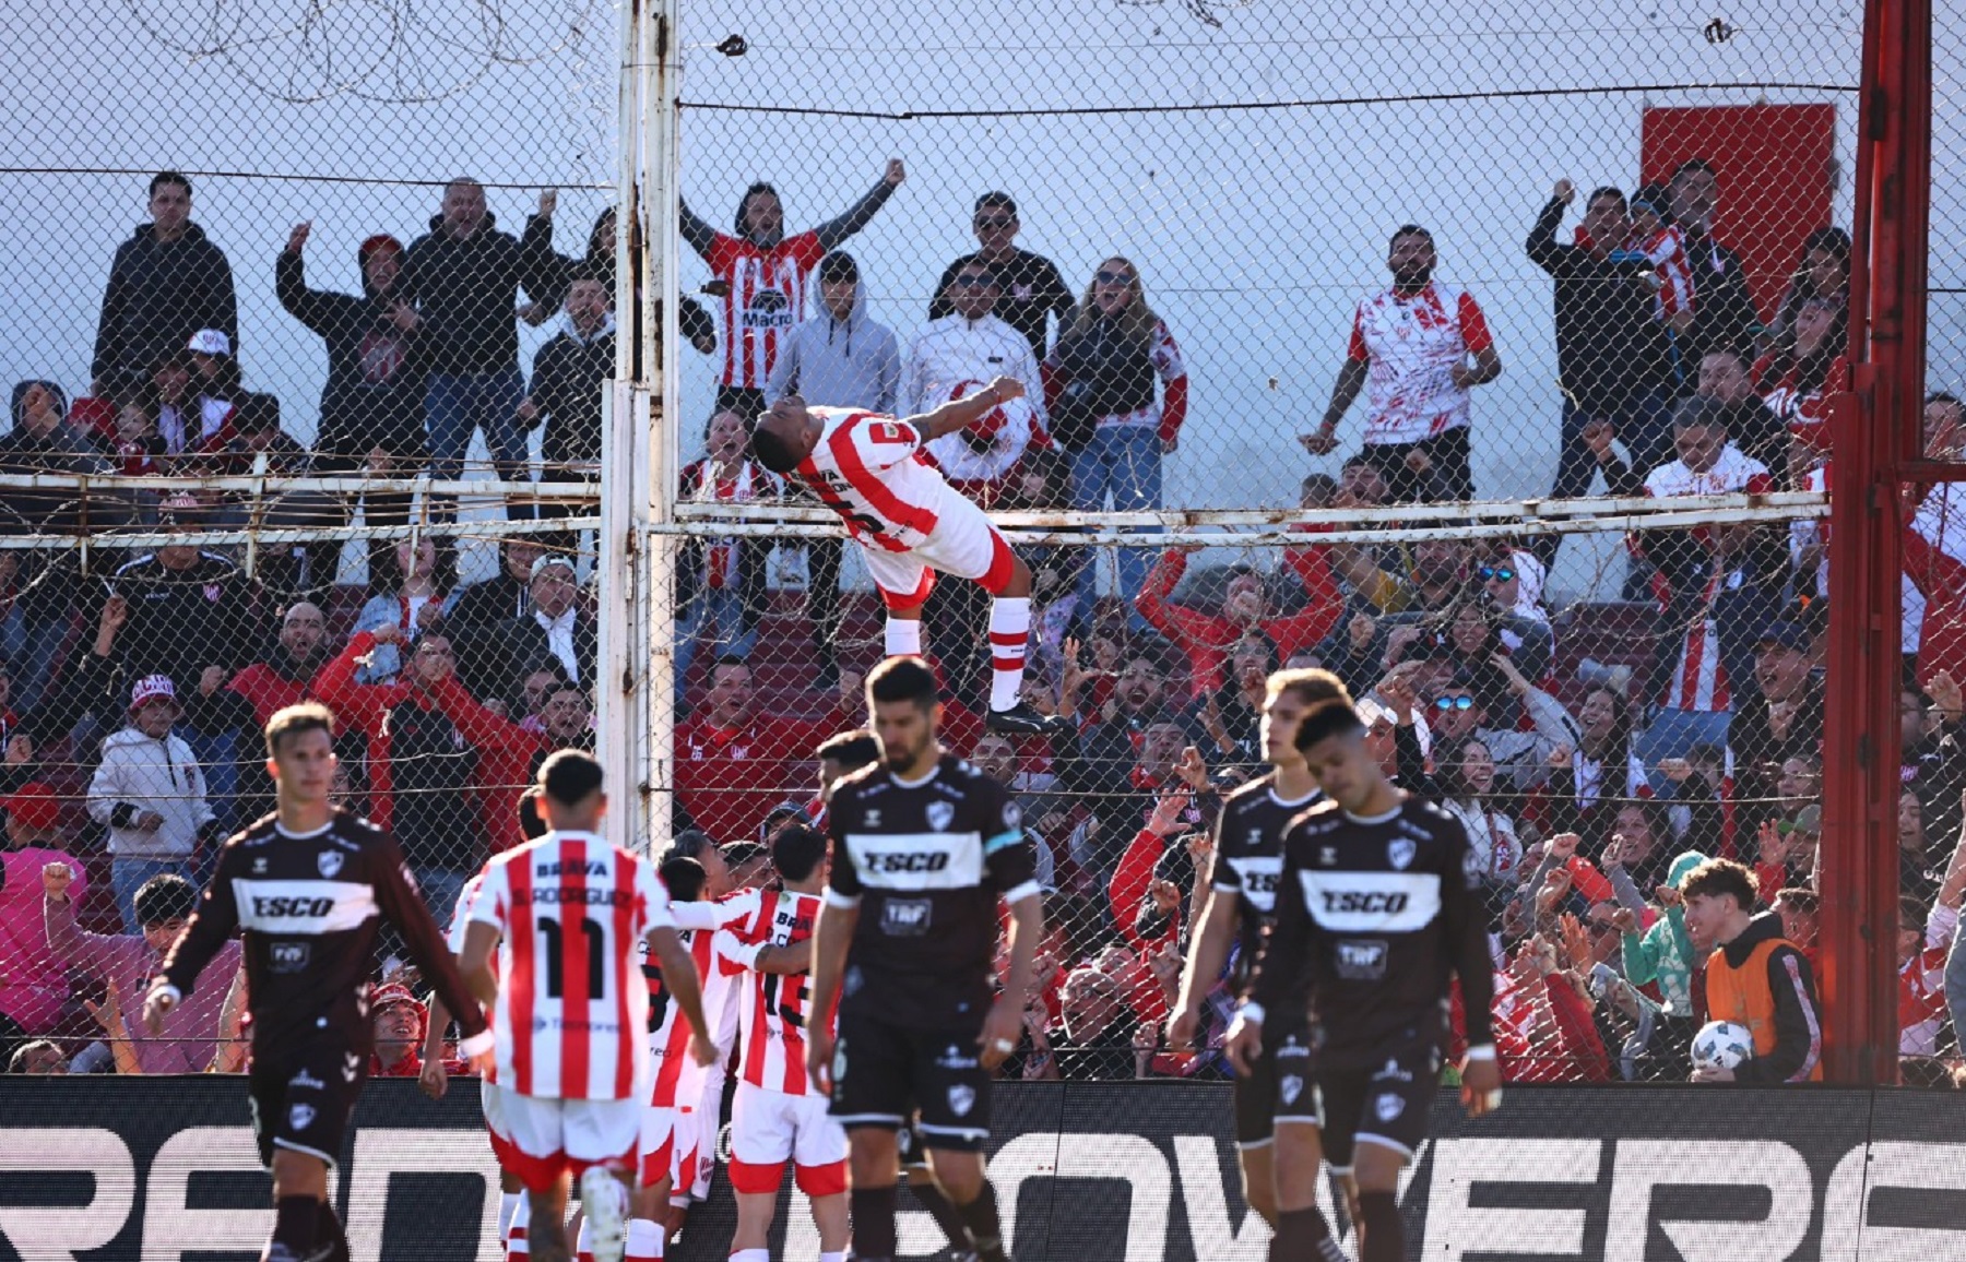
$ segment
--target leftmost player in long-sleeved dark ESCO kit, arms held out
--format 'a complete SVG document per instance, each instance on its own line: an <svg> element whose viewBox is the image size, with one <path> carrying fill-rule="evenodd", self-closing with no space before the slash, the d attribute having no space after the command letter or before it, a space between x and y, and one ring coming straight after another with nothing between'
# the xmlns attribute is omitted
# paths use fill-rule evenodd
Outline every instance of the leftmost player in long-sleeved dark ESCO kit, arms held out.
<svg viewBox="0 0 1966 1262"><path fill-rule="evenodd" d="M460 1014L458 1052L474 1069L492 1065L492 1032L395 837L330 800L334 716L315 702L289 706L265 735L277 808L224 843L199 910L151 983L144 1024L161 1032L204 965L244 930L252 1115L260 1160L273 1172L265 1262L346 1262L348 1240L326 1199L328 1166L340 1160L368 1079L370 973L383 916Z"/></svg>

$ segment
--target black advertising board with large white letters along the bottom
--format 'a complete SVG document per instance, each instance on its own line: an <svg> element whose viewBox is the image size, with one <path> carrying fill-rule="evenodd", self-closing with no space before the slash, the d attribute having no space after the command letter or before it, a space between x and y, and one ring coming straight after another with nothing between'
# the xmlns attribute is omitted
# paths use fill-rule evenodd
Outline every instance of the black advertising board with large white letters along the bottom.
<svg viewBox="0 0 1966 1262"><path fill-rule="evenodd" d="M478 1093L372 1083L336 1179L354 1262L495 1258ZM1453 1097L1402 1189L1412 1258L1942 1262L1966 1258L1966 1099L1913 1091L1512 1087ZM991 1156L1022 1262L1260 1262L1219 1083L1014 1083ZM818 1240L796 1191L773 1256ZM902 1254L942 1242L902 1197ZM1329 1205L1327 1205L1329 1209ZM727 1256L718 1177L676 1262ZM258 1256L267 1181L240 1079L0 1079L0 1262Z"/></svg>

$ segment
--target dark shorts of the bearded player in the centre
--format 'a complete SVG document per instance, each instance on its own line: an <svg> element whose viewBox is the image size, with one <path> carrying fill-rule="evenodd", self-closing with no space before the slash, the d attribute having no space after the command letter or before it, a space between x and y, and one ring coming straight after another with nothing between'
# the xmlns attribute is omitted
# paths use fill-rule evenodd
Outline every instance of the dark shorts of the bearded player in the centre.
<svg viewBox="0 0 1966 1262"><path fill-rule="evenodd" d="M912 1030L841 1008L832 1115L847 1130L900 1130L912 1119L924 1148L981 1152L991 1075L977 1060L979 1028Z"/></svg>

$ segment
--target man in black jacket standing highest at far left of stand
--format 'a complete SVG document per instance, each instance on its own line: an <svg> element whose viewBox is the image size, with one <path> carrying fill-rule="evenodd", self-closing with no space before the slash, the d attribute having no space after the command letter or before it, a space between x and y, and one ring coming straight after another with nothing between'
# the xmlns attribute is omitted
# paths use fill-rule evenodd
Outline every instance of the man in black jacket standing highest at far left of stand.
<svg viewBox="0 0 1966 1262"><path fill-rule="evenodd" d="M157 348L183 346L201 328L224 332L234 350L240 344L232 265L191 222L191 181L177 171L151 177L149 220L110 263L88 370L98 397L140 383Z"/></svg>

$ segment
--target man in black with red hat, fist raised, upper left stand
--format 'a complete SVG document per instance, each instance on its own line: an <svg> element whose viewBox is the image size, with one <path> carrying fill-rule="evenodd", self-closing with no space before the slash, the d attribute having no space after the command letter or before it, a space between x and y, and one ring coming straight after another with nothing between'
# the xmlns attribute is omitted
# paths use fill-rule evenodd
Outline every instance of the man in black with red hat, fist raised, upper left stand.
<svg viewBox="0 0 1966 1262"><path fill-rule="evenodd" d="M377 234L356 250L362 293L330 293L307 287L301 250L313 224L295 224L287 248L273 263L273 291L279 305L301 324L320 334L328 350L328 381L320 389L320 429L315 438L315 472L409 478L423 468L429 446L423 432L425 370L417 356L423 316L401 287L403 244ZM354 513L366 499L368 525L405 525L409 495L350 495L344 509ZM334 545L340 550L340 545ZM395 546L370 548L370 570L377 588L395 586L387 574Z"/></svg>

